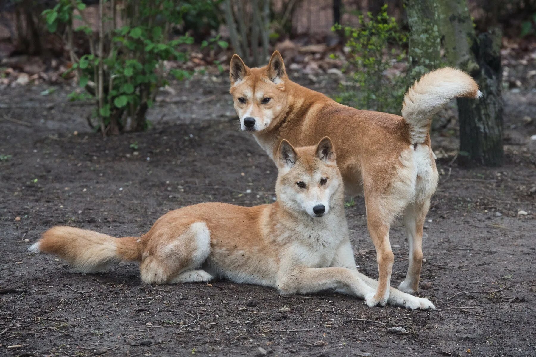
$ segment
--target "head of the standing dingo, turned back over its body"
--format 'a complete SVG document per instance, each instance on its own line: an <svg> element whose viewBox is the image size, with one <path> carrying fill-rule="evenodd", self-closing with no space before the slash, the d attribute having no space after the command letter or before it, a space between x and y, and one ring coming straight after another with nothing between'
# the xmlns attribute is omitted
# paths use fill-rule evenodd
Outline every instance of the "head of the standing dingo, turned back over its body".
<svg viewBox="0 0 536 357"><path fill-rule="evenodd" d="M257 132L270 127L287 105L285 63L275 51L268 65L249 68L239 55L231 58L229 93L240 118L240 128Z"/></svg>

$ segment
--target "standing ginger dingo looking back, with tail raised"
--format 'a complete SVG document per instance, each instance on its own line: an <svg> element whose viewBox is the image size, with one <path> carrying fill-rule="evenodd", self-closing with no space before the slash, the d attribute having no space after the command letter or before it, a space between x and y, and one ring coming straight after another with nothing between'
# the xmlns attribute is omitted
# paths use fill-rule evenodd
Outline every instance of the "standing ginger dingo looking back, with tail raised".
<svg viewBox="0 0 536 357"><path fill-rule="evenodd" d="M438 177L430 145L431 117L452 98L479 97L477 83L467 73L445 67L423 75L408 90L402 116L357 110L289 80L275 51L261 68L249 68L234 55L230 84L242 130L252 132L274 161L281 139L308 146L325 135L332 138L348 193L364 193L376 247L379 284L367 303L382 306L389 299L394 262L389 229L398 215L404 217L410 245L410 263L399 289L416 292L422 227Z"/></svg>

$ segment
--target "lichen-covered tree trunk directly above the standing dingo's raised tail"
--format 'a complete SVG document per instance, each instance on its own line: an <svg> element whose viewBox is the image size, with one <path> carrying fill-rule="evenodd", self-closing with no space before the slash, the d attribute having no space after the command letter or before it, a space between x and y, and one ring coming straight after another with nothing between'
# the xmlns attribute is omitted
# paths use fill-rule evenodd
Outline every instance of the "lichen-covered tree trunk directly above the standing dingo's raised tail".
<svg viewBox="0 0 536 357"><path fill-rule="evenodd" d="M410 26L408 86L441 64L441 36L437 26L436 0L407 0Z"/></svg>

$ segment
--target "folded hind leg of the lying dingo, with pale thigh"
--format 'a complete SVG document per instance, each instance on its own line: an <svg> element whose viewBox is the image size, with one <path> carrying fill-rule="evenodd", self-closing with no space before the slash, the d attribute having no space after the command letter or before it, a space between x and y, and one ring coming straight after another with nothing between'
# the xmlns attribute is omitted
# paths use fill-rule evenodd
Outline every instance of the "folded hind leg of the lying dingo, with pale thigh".
<svg viewBox="0 0 536 357"><path fill-rule="evenodd" d="M207 282L212 276L200 270L210 254L210 231L204 222L173 227L157 246L142 257L140 275L144 283L177 284Z"/></svg>

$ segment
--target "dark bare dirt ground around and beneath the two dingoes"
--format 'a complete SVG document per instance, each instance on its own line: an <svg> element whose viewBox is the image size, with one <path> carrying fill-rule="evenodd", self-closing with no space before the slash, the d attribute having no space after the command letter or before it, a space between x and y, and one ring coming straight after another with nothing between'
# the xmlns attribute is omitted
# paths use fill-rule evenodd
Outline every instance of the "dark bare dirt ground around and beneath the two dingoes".
<svg viewBox="0 0 536 357"><path fill-rule="evenodd" d="M151 111L152 130L107 139L89 132L90 107L66 103L69 88L41 95L46 88L0 95L0 288L16 288L0 294L0 355L536 355L536 155L527 139L536 126L523 124L534 118L536 93L505 94L502 168L464 170L452 157L438 159L418 292L438 309L409 311L224 281L144 285L133 263L81 275L28 253L57 224L131 236L188 204L272 202L276 178L239 131L225 75L172 87ZM455 137L434 136L438 153L456 150ZM347 202L356 260L376 277L363 199ZM407 269L403 231L400 222L391 230L393 286Z"/></svg>

